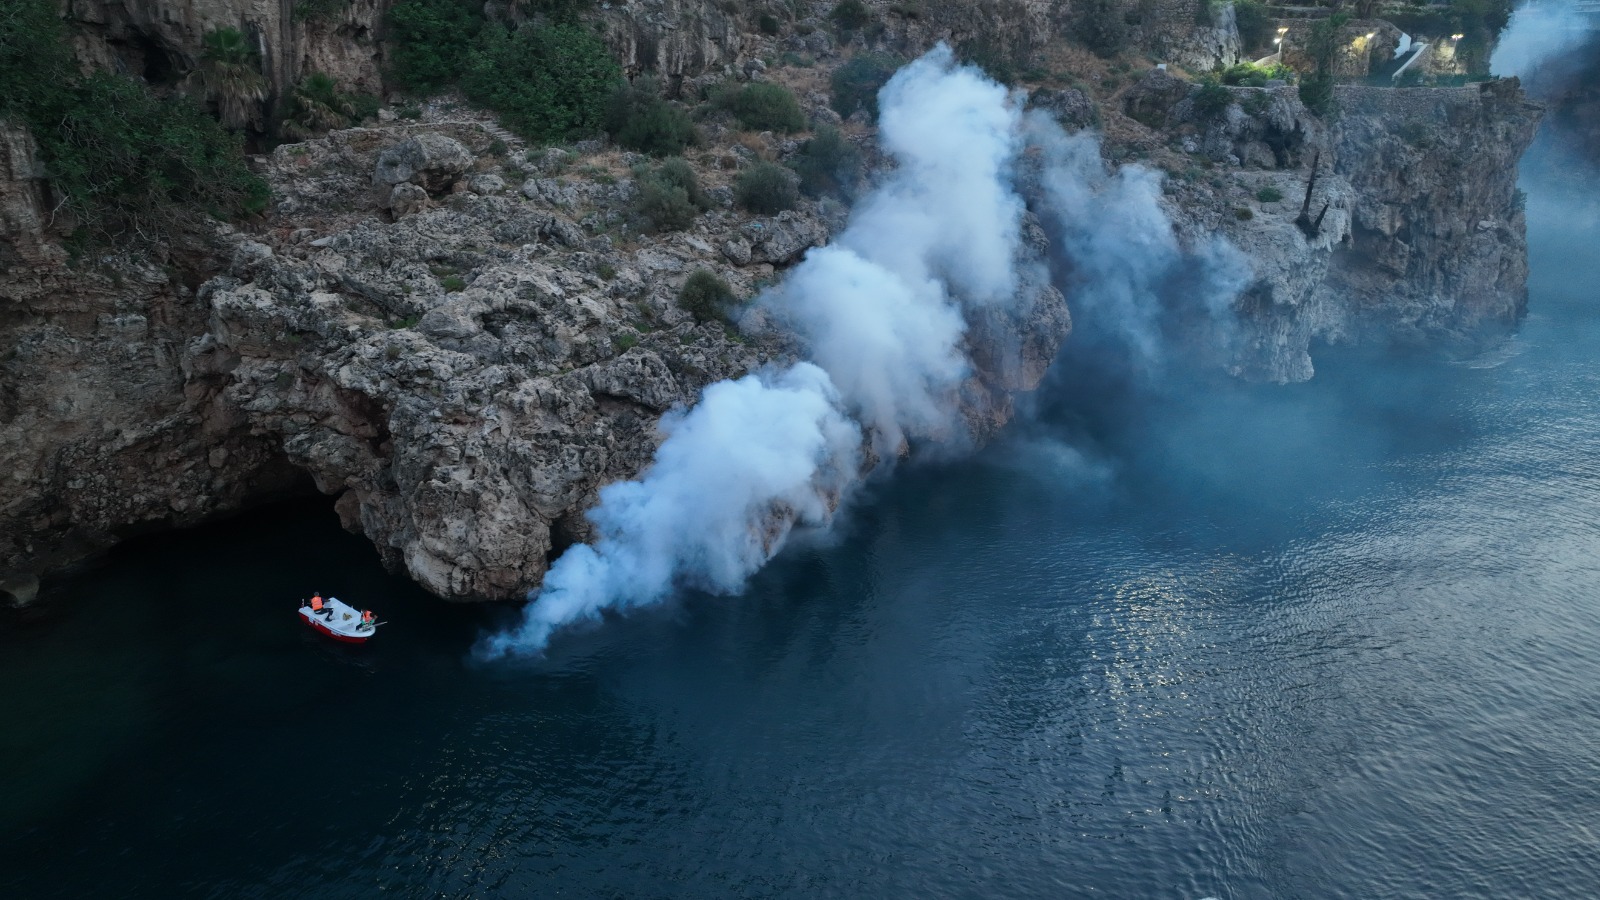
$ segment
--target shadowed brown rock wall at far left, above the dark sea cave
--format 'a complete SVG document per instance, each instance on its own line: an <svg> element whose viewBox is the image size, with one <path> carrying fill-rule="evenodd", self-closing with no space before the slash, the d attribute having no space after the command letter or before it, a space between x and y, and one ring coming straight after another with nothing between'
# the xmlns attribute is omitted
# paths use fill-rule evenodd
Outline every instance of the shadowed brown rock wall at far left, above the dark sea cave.
<svg viewBox="0 0 1600 900"><path fill-rule="evenodd" d="M0 128L0 589L142 530L202 522L296 490L218 384L184 372L206 312L186 274L230 234L69 264L50 232L32 139ZM10 586L6 586L10 585Z"/></svg>

